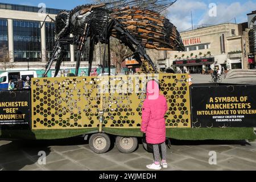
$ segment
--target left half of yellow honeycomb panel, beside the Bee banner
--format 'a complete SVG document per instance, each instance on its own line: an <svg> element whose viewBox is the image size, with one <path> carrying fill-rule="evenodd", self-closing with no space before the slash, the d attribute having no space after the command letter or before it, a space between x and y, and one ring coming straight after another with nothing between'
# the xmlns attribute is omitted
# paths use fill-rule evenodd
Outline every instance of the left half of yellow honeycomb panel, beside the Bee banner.
<svg viewBox="0 0 256 182"><path fill-rule="evenodd" d="M98 126L97 77L32 79L32 129Z"/></svg>

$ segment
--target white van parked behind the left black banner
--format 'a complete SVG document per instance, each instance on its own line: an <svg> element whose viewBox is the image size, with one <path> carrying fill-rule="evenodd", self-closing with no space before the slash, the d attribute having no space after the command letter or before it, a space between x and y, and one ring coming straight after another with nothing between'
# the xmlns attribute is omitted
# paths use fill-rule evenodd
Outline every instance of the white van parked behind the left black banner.
<svg viewBox="0 0 256 182"><path fill-rule="evenodd" d="M18 78L21 78L24 82L27 81L26 78L37 78L38 75L36 71L10 71L4 72L0 75L0 90L8 90L8 84L10 80L13 80L14 83L18 81Z"/></svg>

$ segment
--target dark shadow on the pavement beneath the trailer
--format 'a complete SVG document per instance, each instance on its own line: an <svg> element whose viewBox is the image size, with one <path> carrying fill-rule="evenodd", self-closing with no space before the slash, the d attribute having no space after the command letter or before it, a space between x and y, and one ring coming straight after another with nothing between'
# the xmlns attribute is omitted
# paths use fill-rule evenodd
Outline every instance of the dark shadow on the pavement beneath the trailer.
<svg viewBox="0 0 256 182"><path fill-rule="evenodd" d="M1 140L0 140L1 142ZM0 171L1 170L32 170L40 168L37 164L40 156L39 151L44 151L46 156L54 152L51 147L56 146L80 146L88 144L89 140L82 137L56 140L3 140L0 146ZM142 144L142 138L138 138L138 144ZM250 143L245 140L175 140L171 139L171 145L174 146L197 146L197 145L225 145L240 144L246 146ZM89 146L88 146L89 147ZM88 148L86 146L86 148ZM114 137L112 137L112 146L114 148ZM62 149L62 147L61 147Z"/></svg>

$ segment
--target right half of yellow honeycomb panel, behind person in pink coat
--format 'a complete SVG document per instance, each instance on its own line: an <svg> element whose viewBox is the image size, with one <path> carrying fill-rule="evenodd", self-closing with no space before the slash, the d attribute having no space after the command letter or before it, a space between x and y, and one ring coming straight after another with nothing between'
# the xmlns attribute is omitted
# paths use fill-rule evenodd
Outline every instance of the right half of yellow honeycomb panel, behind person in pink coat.
<svg viewBox="0 0 256 182"><path fill-rule="evenodd" d="M151 75L110 77L110 80L115 82L115 84L112 84L115 85L115 89L118 91L122 90L123 93L104 94L103 126L122 128L141 127L141 109L143 101L146 98L146 83L152 80L152 78L159 82L160 93L166 97L168 102L166 126L191 127L187 74L159 74L154 77Z"/></svg>

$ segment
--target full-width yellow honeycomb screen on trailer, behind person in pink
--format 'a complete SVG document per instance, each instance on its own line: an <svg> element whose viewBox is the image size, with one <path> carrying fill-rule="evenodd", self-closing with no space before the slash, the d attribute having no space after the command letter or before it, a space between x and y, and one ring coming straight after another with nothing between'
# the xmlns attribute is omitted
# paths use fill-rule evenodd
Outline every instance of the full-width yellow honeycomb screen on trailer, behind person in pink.
<svg viewBox="0 0 256 182"><path fill-rule="evenodd" d="M32 129L99 127L100 106L102 127L139 128L146 83L152 78L144 74L33 78ZM167 127L191 127L187 79L187 74L154 76L168 101Z"/></svg>

